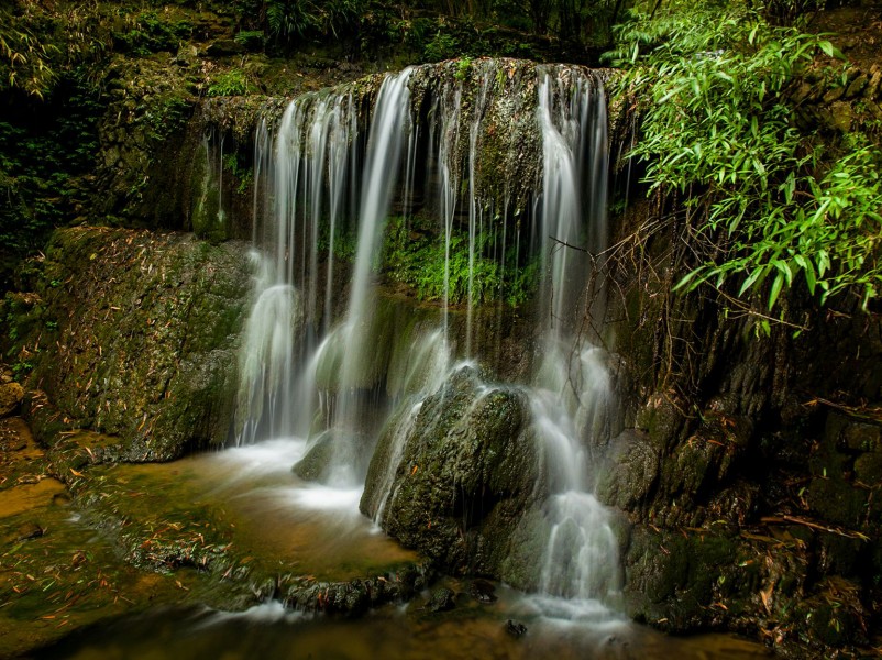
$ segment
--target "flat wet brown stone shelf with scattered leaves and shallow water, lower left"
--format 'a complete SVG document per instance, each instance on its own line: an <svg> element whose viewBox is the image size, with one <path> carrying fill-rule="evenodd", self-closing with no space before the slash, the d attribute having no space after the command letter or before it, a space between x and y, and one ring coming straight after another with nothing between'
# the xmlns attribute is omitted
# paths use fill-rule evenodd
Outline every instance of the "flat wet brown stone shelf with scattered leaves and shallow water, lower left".
<svg viewBox="0 0 882 660"><path fill-rule="evenodd" d="M84 448L98 440L74 440L71 451L88 457ZM305 612L359 615L426 585L419 559L372 536L357 513L324 537L316 535L321 512L279 516L297 508L294 491L279 488L275 504L265 497L280 475L294 480L285 468L239 484L247 460L224 463L222 454L70 468L53 462L19 418L0 421L0 657L161 604L241 610L275 597ZM59 466L66 483L49 476ZM356 528L364 556L310 546Z"/></svg>

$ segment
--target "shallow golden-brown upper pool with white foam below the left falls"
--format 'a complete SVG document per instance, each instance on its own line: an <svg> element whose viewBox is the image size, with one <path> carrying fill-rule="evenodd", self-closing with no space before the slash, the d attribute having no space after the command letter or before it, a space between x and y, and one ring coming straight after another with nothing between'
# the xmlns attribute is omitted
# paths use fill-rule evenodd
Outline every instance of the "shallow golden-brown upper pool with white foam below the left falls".
<svg viewBox="0 0 882 660"><path fill-rule="evenodd" d="M210 513L234 530L236 554L263 572L340 582L418 560L359 513L360 490L298 480L290 469L302 451L302 442L267 441L174 463L117 465L112 477L144 493L153 512ZM146 513L143 498L120 506L130 517Z"/></svg>

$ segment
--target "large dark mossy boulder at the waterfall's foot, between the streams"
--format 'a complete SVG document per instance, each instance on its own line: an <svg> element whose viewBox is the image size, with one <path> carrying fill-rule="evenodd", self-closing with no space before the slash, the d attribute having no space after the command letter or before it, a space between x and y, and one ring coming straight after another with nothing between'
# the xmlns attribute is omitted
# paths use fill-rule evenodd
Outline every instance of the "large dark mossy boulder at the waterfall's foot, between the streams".
<svg viewBox="0 0 882 660"><path fill-rule="evenodd" d="M394 430L381 438L362 512L374 517L383 506L381 526L448 571L528 583L534 576L520 564L530 562L522 549L532 518L523 514L543 495L529 421L522 392L457 371L422 404L385 506L382 457L392 453Z"/></svg>

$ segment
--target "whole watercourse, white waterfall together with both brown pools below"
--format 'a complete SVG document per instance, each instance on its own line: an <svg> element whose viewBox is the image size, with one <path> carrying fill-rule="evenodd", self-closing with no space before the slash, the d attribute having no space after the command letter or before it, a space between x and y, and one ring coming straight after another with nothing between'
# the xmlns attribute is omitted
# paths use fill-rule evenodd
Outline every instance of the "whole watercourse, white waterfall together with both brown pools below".
<svg viewBox="0 0 882 660"><path fill-rule="evenodd" d="M467 77L455 67L406 69L367 97L352 87L307 95L280 121L260 122L255 302L243 334L236 447L178 462L174 476L168 466L126 470L168 487L186 480L189 497L222 503L236 542L266 570L346 581L412 563L414 553L359 513L377 437L392 432L381 521L427 397L463 364L490 374L487 392L500 382L509 358L503 339L486 337L481 323L493 317L481 301L533 268L529 337L538 349L505 386L530 402L548 482L534 593L497 585L498 598L485 603L466 595L467 581L448 579L460 592L451 612L429 613L418 595L360 620L273 601L243 613L165 609L102 629L100 642L71 638L45 657L158 658L172 647L175 658L764 654L726 637L668 638L609 605L621 588L618 546L592 488L596 454L619 429L610 356L594 345L603 290L588 284L589 254L603 252L607 234L602 77L507 61L472 67ZM489 169L488 150L501 169ZM437 305L401 312L381 288L393 216L418 238L426 218L436 224ZM492 285L482 279L488 270ZM527 634L508 634L509 619Z"/></svg>

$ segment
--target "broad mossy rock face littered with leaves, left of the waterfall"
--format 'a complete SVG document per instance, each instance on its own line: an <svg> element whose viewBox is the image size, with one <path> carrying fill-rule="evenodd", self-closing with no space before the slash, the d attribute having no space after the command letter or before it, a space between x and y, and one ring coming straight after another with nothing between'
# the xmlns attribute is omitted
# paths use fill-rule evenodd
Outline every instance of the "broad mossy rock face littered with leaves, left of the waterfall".
<svg viewBox="0 0 882 660"><path fill-rule="evenodd" d="M51 425L37 415L41 428L115 436L110 460L168 460L227 440L250 292L244 244L60 230L34 279L38 320L10 319L33 366L27 387L57 410Z"/></svg>

